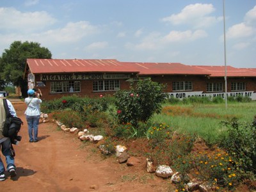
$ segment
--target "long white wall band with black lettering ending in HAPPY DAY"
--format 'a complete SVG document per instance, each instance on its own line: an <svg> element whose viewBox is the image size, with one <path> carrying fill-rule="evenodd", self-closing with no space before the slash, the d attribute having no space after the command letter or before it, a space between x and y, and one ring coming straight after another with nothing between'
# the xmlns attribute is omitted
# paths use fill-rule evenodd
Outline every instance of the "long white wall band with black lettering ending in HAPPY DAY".
<svg viewBox="0 0 256 192"><path fill-rule="evenodd" d="M169 98L177 98L177 99L183 99L188 97L222 97L225 99L225 93L204 93L204 92L170 92ZM256 100L256 93L255 92L227 92L227 97L250 97L252 100Z"/></svg>

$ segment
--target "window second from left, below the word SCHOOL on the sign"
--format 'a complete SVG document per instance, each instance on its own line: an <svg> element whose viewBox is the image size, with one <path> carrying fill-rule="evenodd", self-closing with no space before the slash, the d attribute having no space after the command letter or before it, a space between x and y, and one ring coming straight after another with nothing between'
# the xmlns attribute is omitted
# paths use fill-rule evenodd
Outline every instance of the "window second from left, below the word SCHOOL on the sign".
<svg viewBox="0 0 256 192"><path fill-rule="evenodd" d="M93 92L120 90L119 80L93 81Z"/></svg>

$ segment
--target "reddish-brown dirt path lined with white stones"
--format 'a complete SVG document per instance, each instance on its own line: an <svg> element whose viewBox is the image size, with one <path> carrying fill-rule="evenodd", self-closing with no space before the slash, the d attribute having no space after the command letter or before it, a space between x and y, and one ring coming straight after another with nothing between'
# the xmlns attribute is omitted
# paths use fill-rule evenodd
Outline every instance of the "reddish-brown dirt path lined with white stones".
<svg viewBox="0 0 256 192"><path fill-rule="evenodd" d="M17 176L0 183L0 191L173 191L166 181L142 166L102 158L93 144L84 145L74 134L56 131L51 122L39 125L39 142L29 143L24 102L12 101L24 125L22 141L14 145ZM3 159L3 155L1 155Z"/></svg>

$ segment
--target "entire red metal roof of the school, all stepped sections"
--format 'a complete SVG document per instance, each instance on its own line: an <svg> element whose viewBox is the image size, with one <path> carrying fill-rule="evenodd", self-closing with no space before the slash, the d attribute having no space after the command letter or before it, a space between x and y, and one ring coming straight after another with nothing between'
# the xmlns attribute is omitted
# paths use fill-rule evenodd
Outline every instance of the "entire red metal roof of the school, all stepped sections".
<svg viewBox="0 0 256 192"><path fill-rule="evenodd" d="M116 72L147 75L205 75L225 77L225 66L184 65L182 63L140 63L117 60L28 59L33 74ZM256 68L227 66L227 77L256 77Z"/></svg>

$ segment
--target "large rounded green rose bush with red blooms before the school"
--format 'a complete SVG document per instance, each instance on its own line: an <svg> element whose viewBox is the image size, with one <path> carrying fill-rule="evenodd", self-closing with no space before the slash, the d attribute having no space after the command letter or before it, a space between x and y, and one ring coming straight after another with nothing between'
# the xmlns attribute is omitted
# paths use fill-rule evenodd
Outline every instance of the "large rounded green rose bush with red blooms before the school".
<svg viewBox="0 0 256 192"><path fill-rule="evenodd" d="M115 93L115 105L120 123L131 123L137 127L138 122L147 122L154 113L161 113L167 94L163 93L164 86L145 79L136 84L131 90L119 90Z"/></svg>

